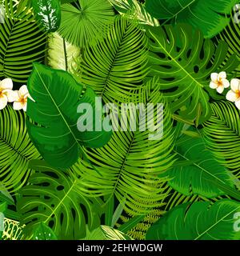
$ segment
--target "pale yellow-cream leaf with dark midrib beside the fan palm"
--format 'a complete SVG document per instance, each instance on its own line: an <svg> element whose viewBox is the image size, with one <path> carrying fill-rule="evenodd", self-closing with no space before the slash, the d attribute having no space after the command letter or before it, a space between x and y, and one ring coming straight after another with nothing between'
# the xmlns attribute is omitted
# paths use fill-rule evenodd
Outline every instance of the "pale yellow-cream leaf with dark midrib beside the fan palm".
<svg viewBox="0 0 240 256"><path fill-rule="evenodd" d="M56 70L73 73L80 61L80 49L66 42L57 32L48 35L47 63Z"/></svg>

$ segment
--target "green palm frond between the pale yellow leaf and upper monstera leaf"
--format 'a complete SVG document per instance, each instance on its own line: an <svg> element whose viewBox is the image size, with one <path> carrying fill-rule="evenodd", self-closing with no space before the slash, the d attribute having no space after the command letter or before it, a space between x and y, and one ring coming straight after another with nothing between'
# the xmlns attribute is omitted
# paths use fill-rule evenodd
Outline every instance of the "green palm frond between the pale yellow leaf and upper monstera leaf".
<svg viewBox="0 0 240 256"><path fill-rule="evenodd" d="M144 32L126 18L119 18L104 42L86 49L78 76L104 102L126 102L129 91L146 77L146 63Z"/></svg>

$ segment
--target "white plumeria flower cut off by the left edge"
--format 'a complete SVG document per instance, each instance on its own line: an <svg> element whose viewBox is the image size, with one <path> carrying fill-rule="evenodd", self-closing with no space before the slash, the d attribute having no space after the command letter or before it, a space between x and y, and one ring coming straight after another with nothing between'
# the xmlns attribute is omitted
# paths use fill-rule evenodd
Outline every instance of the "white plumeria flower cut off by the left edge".
<svg viewBox="0 0 240 256"><path fill-rule="evenodd" d="M7 102L14 102L13 81L10 78L3 79L0 82L0 110L6 107Z"/></svg>

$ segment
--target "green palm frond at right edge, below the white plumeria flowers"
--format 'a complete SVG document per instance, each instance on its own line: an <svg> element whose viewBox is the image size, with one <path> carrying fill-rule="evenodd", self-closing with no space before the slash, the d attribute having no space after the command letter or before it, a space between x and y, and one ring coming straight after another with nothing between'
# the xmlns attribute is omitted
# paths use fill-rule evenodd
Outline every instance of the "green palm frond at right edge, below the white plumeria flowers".
<svg viewBox="0 0 240 256"><path fill-rule="evenodd" d="M206 146L222 165L240 178L240 122L239 111L232 102L212 104L211 118L204 122L203 135Z"/></svg>

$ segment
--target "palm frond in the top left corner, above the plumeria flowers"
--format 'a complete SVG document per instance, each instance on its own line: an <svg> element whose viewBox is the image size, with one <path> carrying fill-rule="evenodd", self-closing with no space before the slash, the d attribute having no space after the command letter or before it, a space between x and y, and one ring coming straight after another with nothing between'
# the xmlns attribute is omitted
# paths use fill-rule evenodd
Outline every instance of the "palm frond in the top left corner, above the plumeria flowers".
<svg viewBox="0 0 240 256"><path fill-rule="evenodd" d="M30 8L4 0L5 22L0 23L0 78L26 83L32 62L44 60L46 34Z"/></svg>

